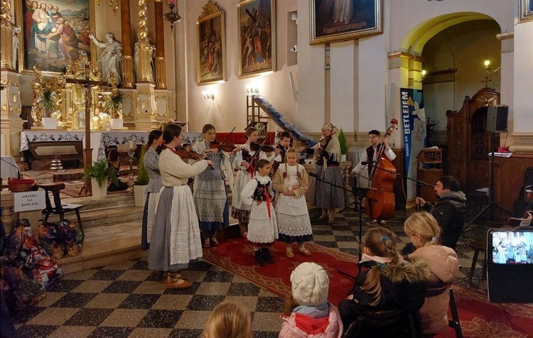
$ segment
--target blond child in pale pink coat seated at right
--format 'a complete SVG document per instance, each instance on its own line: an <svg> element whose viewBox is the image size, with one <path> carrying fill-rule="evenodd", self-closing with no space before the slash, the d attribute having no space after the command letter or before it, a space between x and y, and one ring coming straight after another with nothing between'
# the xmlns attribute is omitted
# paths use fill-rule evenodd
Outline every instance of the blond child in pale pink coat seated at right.
<svg viewBox="0 0 533 338"><path fill-rule="evenodd" d="M438 244L441 228L436 219L427 212L412 214L406 219L404 231L414 244L416 251L409 258L421 258L429 266L429 283L453 283L459 274L459 261L456 251ZM436 334L448 327L448 291L434 297L426 297L420 309L424 334Z"/></svg>

